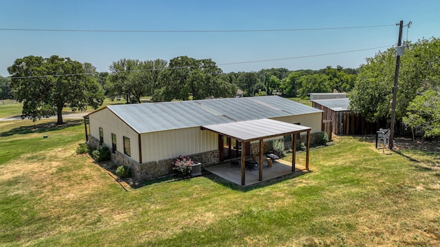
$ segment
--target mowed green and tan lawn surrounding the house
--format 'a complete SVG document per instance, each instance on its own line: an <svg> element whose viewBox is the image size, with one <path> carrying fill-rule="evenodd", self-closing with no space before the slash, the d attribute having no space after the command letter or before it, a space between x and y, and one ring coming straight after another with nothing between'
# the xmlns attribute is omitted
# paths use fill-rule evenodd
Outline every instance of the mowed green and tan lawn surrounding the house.
<svg viewBox="0 0 440 247"><path fill-rule="evenodd" d="M75 154L80 121L53 124L0 122L0 246L440 246L440 154L338 137L302 176L127 192Z"/></svg>

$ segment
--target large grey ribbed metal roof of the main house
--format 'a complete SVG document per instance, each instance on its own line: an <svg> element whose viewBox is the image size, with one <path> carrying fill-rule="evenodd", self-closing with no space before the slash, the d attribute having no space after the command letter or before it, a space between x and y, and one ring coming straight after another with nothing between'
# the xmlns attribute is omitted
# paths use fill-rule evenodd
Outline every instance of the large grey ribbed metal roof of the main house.
<svg viewBox="0 0 440 247"><path fill-rule="evenodd" d="M279 96L125 104L107 108L138 133L322 112Z"/></svg>

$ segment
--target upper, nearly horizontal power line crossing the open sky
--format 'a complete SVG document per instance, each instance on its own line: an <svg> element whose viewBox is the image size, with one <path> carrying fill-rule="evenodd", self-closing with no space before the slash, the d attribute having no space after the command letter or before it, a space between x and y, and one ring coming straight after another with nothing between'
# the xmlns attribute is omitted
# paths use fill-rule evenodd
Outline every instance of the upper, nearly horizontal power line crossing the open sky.
<svg viewBox="0 0 440 247"><path fill-rule="evenodd" d="M274 29L274 30L63 30L63 29L30 29L30 28L0 28L0 31L25 31L25 32L296 32L296 31L317 31L317 30L348 30L360 28L373 27L390 27L390 25L369 25L369 26L355 26L355 27L318 27L318 28L292 28L292 29Z"/></svg>

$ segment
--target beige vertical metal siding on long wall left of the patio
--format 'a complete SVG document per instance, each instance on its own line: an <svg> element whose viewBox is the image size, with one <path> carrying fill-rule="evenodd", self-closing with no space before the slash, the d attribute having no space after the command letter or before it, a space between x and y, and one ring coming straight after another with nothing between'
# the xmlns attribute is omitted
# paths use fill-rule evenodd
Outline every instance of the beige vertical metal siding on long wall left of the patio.
<svg viewBox="0 0 440 247"><path fill-rule="evenodd" d="M217 134L200 130L199 127L144 133L141 134L141 141L142 162L218 149Z"/></svg>

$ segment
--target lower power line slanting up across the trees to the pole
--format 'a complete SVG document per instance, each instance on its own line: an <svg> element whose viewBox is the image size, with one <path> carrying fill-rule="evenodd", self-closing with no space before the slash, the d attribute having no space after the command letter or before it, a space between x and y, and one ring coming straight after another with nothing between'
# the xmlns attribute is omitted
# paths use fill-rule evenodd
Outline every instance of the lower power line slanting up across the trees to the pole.
<svg viewBox="0 0 440 247"><path fill-rule="evenodd" d="M308 55L308 56L296 56L296 57L290 57L290 58L274 58L274 59L266 59L266 60L253 60L253 61L245 61L245 62L227 62L222 64L216 64L217 66L222 65L232 65L232 64L246 64L246 63L254 63L254 62L272 62L272 61L278 61L278 60L291 60L291 59L298 59L298 58L313 58L317 56L329 56L329 55L336 55L336 54L347 54L352 52L358 52L358 51L368 51L372 49L381 49L381 48L389 48L393 47L393 45L386 45L382 47L373 47L373 48L366 48L366 49L356 49L351 51L338 51L338 52L332 52L327 54L315 54L315 55ZM190 68L197 68L197 66L193 67L165 67L164 69L190 69ZM122 72L142 72L142 71L157 71L161 69L137 69L137 70L130 70L130 71L122 71ZM18 76L13 77L14 79L27 79L27 78L47 78L47 77L59 77L59 76L74 76L74 75L96 75L99 72L94 73L72 73L72 74L64 74L64 75L32 75L32 76ZM119 73L119 72L111 72L111 73Z"/></svg>

